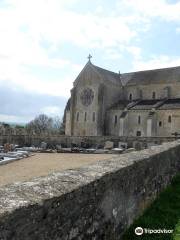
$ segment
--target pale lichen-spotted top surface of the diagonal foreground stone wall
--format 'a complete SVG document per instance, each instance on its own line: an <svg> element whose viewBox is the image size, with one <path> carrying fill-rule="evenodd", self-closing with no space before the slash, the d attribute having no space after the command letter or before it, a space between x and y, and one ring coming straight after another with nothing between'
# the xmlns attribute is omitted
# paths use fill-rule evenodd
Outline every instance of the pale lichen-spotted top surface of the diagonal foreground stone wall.
<svg viewBox="0 0 180 240"><path fill-rule="evenodd" d="M121 171L137 162L148 160L154 155L169 151L180 146L180 141L163 143L150 149L134 151L108 160L69 169L45 177L37 177L26 182L16 182L0 188L0 219L19 208L30 205L43 205L45 200L61 197L101 177Z"/></svg>

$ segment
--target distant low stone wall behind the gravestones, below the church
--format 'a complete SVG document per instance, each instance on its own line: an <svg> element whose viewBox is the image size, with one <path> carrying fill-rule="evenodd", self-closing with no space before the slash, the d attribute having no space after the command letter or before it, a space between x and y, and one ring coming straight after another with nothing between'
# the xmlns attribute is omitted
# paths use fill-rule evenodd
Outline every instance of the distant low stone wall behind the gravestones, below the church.
<svg viewBox="0 0 180 240"><path fill-rule="evenodd" d="M135 147L136 149L146 148L148 143L161 144L162 142L176 140L175 137L116 137L116 136L29 136L29 135L0 135L0 145L4 143L14 143L18 145L35 145L39 146L41 142L47 142L49 145L63 144L71 147L72 144L82 146L87 144L93 146L96 144L104 146L106 141L113 141L115 146L118 142L127 142L128 147Z"/></svg>

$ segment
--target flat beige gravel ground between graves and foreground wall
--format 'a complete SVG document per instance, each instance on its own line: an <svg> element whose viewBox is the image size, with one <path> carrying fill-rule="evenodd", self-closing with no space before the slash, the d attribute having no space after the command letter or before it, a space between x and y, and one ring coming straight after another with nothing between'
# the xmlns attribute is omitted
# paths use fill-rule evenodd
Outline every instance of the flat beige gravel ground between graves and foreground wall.
<svg viewBox="0 0 180 240"><path fill-rule="evenodd" d="M113 156L108 154L36 153L29 158L0 166L0 186L65 169L78 168Z"/></svg>

